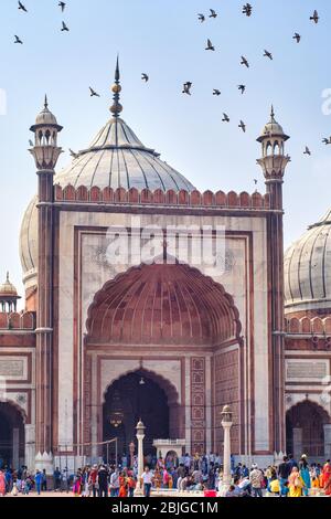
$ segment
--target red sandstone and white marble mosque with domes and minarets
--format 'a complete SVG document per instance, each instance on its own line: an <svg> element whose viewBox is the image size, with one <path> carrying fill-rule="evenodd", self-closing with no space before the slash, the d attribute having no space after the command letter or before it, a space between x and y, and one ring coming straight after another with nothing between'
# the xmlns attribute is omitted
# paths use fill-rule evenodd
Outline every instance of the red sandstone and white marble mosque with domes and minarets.
<svg viewBox="0 0 331 519"><path fill-rule="evenodd" d="M47 99L31 127L24 311L0 286L0 460L52 474L105 458L111 438L128 453L139 419L146 453L217 453L225 404L237 459L331 457L331 212L284 254L274 109L265 192L200 192L121 118L118 65L113 93L63 171Z"/></svg>

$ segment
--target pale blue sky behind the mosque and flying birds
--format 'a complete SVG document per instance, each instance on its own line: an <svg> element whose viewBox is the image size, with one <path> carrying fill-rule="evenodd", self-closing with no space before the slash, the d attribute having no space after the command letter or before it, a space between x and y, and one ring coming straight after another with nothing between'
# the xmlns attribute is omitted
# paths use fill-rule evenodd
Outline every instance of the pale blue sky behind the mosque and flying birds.
<svg viewBox="0 0 331 519"><path fill-rule="evenodd" d="M64 126L61 145L84 148L106 123L109 86L120 54L124 119L149 147L199 189L264 191L256 165L256 137L274 103L276 118L291 136L292 158L285 190L286 244L330 206L331 116L322 113L322 92L331 88L331 2L327 0L252 0L254 13L242 14L244 0L1 0L0 99L0 279L9 268L22 292L19 230L36 192L29 128L49 95L50 108ZM197 21L209 8L218 17ZM318 25L309 17L318 9ZM61 32L62 20L71 29ZM293 32L302 35L297 44ZM14 34L24 42L14 44ZM210 38L215 52L204 50ZM273 52L274 61L263 57ZM239 64L247 56L250 68ZM146 85L140 75L147 72ZM192 96L181 94L185 81ZM247 85L241 95L237 85ZM88 86L102 97L90 98ZM222 95L212 95L220 88ZM222 113L231 124L221 121ZM237 127L247 124L247 133ZM305 146L312 156L303 156ZM64 153L60 167L70 161Z"/></svg>

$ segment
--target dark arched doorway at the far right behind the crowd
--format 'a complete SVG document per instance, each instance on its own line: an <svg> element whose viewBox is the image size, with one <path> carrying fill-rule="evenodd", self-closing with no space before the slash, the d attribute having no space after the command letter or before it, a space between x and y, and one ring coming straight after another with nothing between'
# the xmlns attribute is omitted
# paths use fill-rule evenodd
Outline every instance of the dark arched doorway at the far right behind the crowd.
<svg viewBox="0 0 331 519"><path fill-rule="evenodd" d="M327 411L309 400L293 405L286 414L286 448L299 458L324 458L324 425L330 423Z"/></svg>

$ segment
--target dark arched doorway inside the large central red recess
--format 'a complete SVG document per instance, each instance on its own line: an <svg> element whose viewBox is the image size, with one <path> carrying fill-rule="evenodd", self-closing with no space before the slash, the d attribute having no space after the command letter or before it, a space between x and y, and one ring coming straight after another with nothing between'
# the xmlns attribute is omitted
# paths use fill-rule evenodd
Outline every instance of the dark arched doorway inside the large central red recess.
<svg viewBox="0 0 331 519"><path fill-rule="evenodd" d="M103 410L104 442L117 437L118 455L128 456L129 444L136 442L136 425L140 419L148 424L145 454L153 455L153 439L169 437L170 411L164 389L145 371L128 373L108 388Z"/></svg>

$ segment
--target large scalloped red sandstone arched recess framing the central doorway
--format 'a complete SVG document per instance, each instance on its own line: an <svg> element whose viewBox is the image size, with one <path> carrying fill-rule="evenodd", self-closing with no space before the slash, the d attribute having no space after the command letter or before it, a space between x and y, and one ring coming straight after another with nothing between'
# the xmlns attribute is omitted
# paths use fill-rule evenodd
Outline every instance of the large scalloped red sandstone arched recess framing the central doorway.
<svg viewBox="0 0 331 519"><path fill-rule="evenodd" d="M110 430L109 413L120 404L126 410L131 405L119 394L126 384L131 392L137 383L139 385L137 377L141 375L143 366L148 370L145 375L150 380L150 394L158 394L156 400L163 406L164 415L169 412L169 426L164 422L161 431L156 428L153 422L158 420L153 419L153 413L149 413L147 425L154 431L151 434L169 435L170 439L184 438L191 452L202 452L207 445L213 448L213 442L220 443L222 433L221 409L229 403L234 407L238 445L243 415L242 325L234 299L222 285L185 264L135 266L106 283L96 294L88 309L86 328L86 443L102 442L106 433L118 432L122 443L131 442L132 424L126 420L126 425L121 422L115 427L117 431ZM116 384L109 389L109 384L132 371L137 371L135 377L120 381L121 389ZM157 378L150 371L157 373ZM232 390L225 392L229 373ZM175 386L177 401L169 400L162 380ZM166 391L167 398L158 388L152 388L153 383ZM104 405L103 395L108 389ZM125 392L127 394L129 390ZM132 412L135 420L138 407L136 404Z"/></svg>

